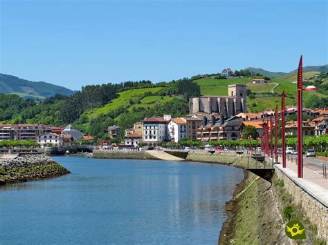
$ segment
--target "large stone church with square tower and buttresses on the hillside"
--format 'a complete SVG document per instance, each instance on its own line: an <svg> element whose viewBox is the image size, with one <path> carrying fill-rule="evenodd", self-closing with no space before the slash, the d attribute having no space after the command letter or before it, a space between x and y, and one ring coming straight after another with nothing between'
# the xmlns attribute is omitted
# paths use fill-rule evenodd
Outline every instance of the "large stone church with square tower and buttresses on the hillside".
<svg viewBox="0 0 328 245"><path fill-rule="evenodd" d="M246 84L228 85L228 96L190 98L190 115L197 112L216 112L225 118L246 112Z"/></svg>

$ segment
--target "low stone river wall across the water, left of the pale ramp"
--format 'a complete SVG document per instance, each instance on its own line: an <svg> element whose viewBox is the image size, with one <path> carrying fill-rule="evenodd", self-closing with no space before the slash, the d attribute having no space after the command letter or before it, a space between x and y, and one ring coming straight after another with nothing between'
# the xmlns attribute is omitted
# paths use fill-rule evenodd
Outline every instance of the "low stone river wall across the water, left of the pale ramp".
<svg viewBox="0 0 328 245"><path fill-rule="evenodd" d="M109 159L157 159L144 150L93 150L93 157Z"/></svg>

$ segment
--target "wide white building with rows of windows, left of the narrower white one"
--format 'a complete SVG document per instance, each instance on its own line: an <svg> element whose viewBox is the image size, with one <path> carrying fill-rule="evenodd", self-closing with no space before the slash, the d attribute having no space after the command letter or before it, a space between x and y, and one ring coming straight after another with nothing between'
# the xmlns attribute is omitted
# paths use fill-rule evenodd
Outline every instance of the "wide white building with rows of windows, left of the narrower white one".
<svg viewBox="0 0 328 245"><path fill-rule="evenodd" d="M143 143L156 145L167 139L167 123L163 117L143 120Z"/></svg>

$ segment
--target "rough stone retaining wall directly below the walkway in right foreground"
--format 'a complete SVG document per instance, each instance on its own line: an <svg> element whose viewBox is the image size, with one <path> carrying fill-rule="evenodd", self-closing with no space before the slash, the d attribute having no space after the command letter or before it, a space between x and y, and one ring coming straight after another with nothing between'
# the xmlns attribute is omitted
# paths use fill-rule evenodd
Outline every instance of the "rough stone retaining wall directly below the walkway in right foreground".
<svg viewBox="0 0 328 245"><path fill-rule="evenodd" d="M300 186L295 184L289 177L275 168L277 177L284 181L284 187L293 197L296 204L300 205L305 214L309 218L311 224L315 224L318 228L318 237L328 239L328 208L324 206L314 197L309 195Z"/></svg>

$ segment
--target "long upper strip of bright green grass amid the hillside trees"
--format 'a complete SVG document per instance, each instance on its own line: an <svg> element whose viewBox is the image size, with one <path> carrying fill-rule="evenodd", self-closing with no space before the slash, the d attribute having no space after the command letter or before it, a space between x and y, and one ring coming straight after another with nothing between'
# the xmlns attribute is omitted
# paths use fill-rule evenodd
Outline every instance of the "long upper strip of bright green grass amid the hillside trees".
<svg viewBox="0 0 328 245"><path fill-rule="evenodd" d="M161 89L162 88L138 88L138 89L119 92L118 98L113 99L109 104L106 104L100 108L88 110L85 112L85 114L89 117L89 119L91 119L97 117L100 114L106 114L111 110L116 110L122 106L127 106L127 104L129 104L130 99L136 99L136 97L140 95L144 95L145 92L158 92ZM154 97L154 96L149 96L149 97ZM151 99L149 99L149 101L151 101Z"/></svg>

